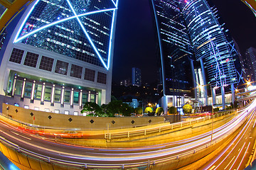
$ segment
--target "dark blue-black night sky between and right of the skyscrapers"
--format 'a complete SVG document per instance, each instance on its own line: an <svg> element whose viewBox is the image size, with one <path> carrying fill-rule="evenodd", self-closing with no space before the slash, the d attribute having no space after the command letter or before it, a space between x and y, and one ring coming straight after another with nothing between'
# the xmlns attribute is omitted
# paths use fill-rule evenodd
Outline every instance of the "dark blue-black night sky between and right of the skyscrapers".
<svg viewBox="0 0 256 170"><path fill-rule="evenodd" d="M240 0L212 0L242 55L256 47L256 17ZM132 67L142 70L142 82L159 79L156 35L149 0L119 0L112 81L132 79Z"/></svg>

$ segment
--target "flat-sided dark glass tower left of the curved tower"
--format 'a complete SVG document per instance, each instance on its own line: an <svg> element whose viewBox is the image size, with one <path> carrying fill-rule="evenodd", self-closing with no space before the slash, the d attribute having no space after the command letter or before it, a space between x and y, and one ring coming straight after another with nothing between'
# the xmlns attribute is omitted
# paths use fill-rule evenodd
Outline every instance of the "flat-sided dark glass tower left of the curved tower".
<svg viewBox="0 0 256 170"><path fill-rule="evenodd" d="M191 96L193 52L186 23L176 0L152 0L159 39L164 101L181 106L184 95Z"/></svg>

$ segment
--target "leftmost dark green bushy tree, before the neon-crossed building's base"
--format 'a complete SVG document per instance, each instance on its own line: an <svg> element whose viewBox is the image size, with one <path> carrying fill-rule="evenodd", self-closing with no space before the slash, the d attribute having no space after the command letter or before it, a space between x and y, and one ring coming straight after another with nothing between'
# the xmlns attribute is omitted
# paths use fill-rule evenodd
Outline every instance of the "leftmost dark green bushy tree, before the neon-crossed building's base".
<svg viewBox="0 0 256 170"><path fill-rule="evenodd" d="M102 108L100 108L97 103L86 102L82 108L81 113L87 113L87 115L102 116Z"/></svg>

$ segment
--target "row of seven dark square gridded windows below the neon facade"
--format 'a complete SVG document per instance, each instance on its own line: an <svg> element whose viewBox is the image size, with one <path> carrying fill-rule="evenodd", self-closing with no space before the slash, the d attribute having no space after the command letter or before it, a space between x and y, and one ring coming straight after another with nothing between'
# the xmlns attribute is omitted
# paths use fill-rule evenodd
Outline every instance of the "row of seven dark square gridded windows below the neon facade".
<svg viewBox="0 0 256 170"><path fill-rule="evenodd" d="M17 48L14 48L13 51L11 52L11 57L10 57L9 61L21 64L23 53L24 53L24 50L19 50ZM23 64L26 66L29 66L29 67L36 68L36 64L38 62L38 57L39 57L39 55L37 55L33 52L27 52L26 58L25 58ZM39 69L43 69L48 72L52 72L53 61L54 61L53 58L42 56L41 62L39 65ZM63 61L57 60L57 62L55 64L54 72L58 73L58 74L67 75L68 74L68 65L69 65L68 62L63 62ZM95 70L85 68L84 79L88 80L88 81L95 81L95 73L96 73ZM82 78L82 67L75 65L75 64L71 64L70 77L76 77L76 78L81 79ZM102 72L97 72L97 83L107 84L107 74L102 73Z"/></svg>

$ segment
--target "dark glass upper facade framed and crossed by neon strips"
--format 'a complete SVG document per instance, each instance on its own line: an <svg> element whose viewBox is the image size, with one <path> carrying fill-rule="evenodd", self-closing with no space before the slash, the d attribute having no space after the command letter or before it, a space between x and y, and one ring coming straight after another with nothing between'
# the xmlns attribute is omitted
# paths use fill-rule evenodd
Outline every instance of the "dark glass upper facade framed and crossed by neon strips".
<svg viewBox="0 0 256 170"><path fill-rule="evenodd" d="M118 0L37 0L21 24L14 43L20 41L23 43L35 42L33 45L36 47L60 53L63 43L56 39L53 40L53 35L50 37L50 33L54 32L59 37L62 36L72 41L64 43L63 49L65 48L65 50L62 50L61 54L91 64L97 63L97 65L109 69L117 4ZM57 7L53 9L48 8L47 5ZM38 14L38 10L42 6L43 11ZM102 21L104 22L102 23ZM96 25L101 28L97 28ZM65 35L67 32L70 32L69 34L74 37L70 38ZM47 36L49 37L47 38ZM74 41L78 43L74 43ZM73 52L74 50L76 51ZM81 59L82 55L87 55L87 59L85 57ZM98 57L100 64L95 60L95 57Z"/></svg>

